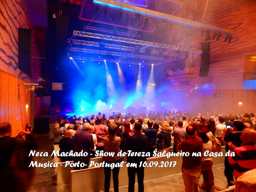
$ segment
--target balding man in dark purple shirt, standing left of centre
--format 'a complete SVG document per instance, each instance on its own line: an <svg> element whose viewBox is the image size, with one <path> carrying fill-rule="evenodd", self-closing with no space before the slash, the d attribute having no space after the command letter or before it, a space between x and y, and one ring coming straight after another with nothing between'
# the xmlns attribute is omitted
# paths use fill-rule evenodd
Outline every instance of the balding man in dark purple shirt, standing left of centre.
<svg viewBox="0 0 256 192"><path fill-rule="evenodd" d="M83 125L82 131L79 131L75 134L74 139L73 139L73 152L87 152L87 156L78 156L78 157L73 157L74 163L78 163L78 161L81 163L84 163L85 166L76 166L74 167L74 170L79 170L81 169L87 169L89 166L89 162L91 159L91 153L90 149L94 149L94 142L92 138L92 134L88 132L88 129L90 127L89 123L85 123Z"/></svg>

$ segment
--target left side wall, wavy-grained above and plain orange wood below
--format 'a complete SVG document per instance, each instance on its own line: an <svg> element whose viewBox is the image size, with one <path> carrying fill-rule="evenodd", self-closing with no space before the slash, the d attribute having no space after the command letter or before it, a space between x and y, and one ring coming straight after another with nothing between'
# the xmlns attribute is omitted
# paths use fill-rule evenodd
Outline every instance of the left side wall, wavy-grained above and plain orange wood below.
<svg viewBox="0 0 256 192"><path fill-rule="evenodd" d="M41 74L39 59L32 58L31 78L18 69L19 27L32 30L32 57L39 57L33 26L30 23L29 8L25 0L0 1L0 122L10 122L13 129L24 128L30 115L29 109L26 113L23 111L26 103L30 103L30 98L28 100L28 94L22 91L21 99L18 100L18 83L35 83ZM38 101L35 97L35 116L39 113ZM20 116L22 123L21 120L15 120L17 116ZM13 134L15 136L16 130Z"/></svg>

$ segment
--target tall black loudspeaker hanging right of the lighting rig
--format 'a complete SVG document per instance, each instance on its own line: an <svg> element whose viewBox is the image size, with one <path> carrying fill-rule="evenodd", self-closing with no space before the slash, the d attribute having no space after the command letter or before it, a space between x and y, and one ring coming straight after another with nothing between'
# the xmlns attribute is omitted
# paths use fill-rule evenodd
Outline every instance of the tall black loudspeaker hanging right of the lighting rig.
<svg viewBox="0 0 256 192"><path fill-rule="evenodd" d="M210 68L210 49L211 43L201 43L201 50L203 53L201 54L201 65L200 65L200 77L207 77Z"/></svg>

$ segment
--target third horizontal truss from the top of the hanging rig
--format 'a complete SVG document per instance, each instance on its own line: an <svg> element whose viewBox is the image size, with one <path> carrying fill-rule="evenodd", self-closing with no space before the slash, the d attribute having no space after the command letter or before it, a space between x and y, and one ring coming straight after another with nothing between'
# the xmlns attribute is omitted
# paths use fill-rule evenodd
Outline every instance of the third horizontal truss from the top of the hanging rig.
<svg viewBox="0 0 256 192"><path fill-rule="evenodd" d="M122 59L122 56L126 56L126 53L118 53L118 52L112 52L112 51L100 51L100 50L94 50L94 49L83 49L83 48L76 48L76 47L72 47L70 49L70 51L92 53L92 54L103 54L103 55L120 56L121 58L119 58L119 59ZM162 58L162 57L153 57L153 56L146 56L146 55L135 55L135 54L132 54L129 57L141 58L141 59L150 59L150 60L157 60L157 61L166 61L166 59ZM117 59L117 60L119 60L119 59ZM117 60L115 60L115 61L117 61Z"/></svg>

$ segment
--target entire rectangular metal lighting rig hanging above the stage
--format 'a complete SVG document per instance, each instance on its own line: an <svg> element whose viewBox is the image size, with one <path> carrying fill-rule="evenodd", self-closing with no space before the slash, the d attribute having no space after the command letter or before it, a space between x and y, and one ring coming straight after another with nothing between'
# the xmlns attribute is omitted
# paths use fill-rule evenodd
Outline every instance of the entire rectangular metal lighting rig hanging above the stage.
<svg viewBox="0 0 256 192"><path fill-rule="evenodd" d="M80 39L78 37L80 37ZM86 40L81 40L81 38L86 38ZM98 39L98 42L88 41L88 39L90 38ZM113 44L109 43L113 41L123 43L123 44L115 45L114 43ZM67 50L68 55L70 51L83 52L83 53L89 53L89 54L99 54L99 55L105 55L106 61L108 62L119 62L119 63L127 63L127 64L140 63L135 61L128 61L129 59L125 59L127 57L145 59L145 60L148 60L148 62L150 62L150 63L145 62L143 63L144 65L151 65L151 64L159 65L159 64L165 64L172 61L184 59L185 52L187 52L188 57L192 57L202 53L201 50L196 50L193 48L165 45L161 43L154 43L154 42L148 42L148 41L137 40L137 39L128 39L123 37L115 37L111 35L102 35L102 34L96 34L96 33L85 32L85 31L73 31L73 35L71 39L67 40L67 43L69 43L68 50ZM78 48L73 45L84 46L84 48L80 48L80 47ZM108 51L98 50L101 46L104 47L104 49L108 49ZM158 50L155 50L154 48L158 48ZM109 51L109 49L112 49L113 51ZM147 49L149 49L150 51L149 54L155 54L157 56L145 55ZM140 53L144 53L144 54L140 54ZM119 58L109 59L108 55L116 56ZM100 59L100 58L98 59L94 57L80 57L80 56L73 56L72 54L72 58L74 59L85 59L89 61L104 61L104 59Z"/></svg>

